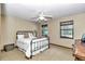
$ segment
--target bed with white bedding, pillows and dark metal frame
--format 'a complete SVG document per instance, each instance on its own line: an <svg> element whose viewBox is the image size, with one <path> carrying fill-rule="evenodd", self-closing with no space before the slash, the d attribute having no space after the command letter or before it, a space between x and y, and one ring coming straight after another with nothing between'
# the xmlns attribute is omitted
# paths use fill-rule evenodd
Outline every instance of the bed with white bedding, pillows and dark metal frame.
<svg viewBox="0 0 85 64"><path fill-rule="evenodd" d="M26 57L32 57L49 48L48 37L37 37L34 31L19 30L16 33L16 46Z"/></svg>

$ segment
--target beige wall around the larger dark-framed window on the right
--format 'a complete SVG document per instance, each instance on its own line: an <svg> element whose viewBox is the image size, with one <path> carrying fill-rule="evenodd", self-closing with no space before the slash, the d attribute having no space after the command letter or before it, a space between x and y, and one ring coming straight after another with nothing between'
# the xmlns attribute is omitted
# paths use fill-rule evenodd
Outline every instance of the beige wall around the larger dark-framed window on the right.
<svg viewBox="0 0 85 64"><path fill-rule="evenodd" d="M60 22L73 20L74 22L74 39L80 39L85 34L85 13L72 16L56 18L48 23L48 31L51 43L72 48L74 39L60 38Z"/></svg>

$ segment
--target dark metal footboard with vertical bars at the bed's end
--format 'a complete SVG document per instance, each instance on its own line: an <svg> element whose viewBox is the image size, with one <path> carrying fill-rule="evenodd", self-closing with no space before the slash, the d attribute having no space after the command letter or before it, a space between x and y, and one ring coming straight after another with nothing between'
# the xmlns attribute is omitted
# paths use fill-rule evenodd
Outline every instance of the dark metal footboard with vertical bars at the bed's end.
<svg viewBox="0 0 85 64"><path fill-rule="evenodd" d="M33 39L30 43L31 57L49 48L48 38Z"/></svg>

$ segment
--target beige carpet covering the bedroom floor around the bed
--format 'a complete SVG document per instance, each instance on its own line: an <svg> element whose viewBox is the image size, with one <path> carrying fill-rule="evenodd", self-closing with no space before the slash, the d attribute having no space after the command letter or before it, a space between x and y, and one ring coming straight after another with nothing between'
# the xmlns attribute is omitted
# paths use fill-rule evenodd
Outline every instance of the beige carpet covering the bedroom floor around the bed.
<svg viewBox="0 0 85 64"><path fill-rule="evenodd" d="M72 50L51 46L51 48L42 53L34 55L32 59L27 60L25 54L18 49L1 53L1 61L73 61Z"/></svg>

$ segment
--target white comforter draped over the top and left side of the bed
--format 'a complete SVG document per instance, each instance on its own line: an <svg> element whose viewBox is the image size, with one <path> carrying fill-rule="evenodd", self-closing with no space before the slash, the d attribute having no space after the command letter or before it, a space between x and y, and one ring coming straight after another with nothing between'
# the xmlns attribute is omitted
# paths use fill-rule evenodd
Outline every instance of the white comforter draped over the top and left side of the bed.
<svg viewBox="0 0 85 64"><path fill-rule="evenodd" d="M25 38L25 39L17 39L17 47L19 48L20 51L25 52L26 56L30 57L31 52L30 52L30 48L31 48L31 42L37 42L40 40L46 40L47 38L39 38L39 39L33 39L33 38ZM44 41L43 41L44 43ZM48 40L45 41L45 43L48 43ZM48 48L48 46L46 47L46 49ZM33 43L32 43L32 50L33 50ZM36 53L39 53L40 51L37 51ZM33 53L33 54L36 54Z"/></svg>

